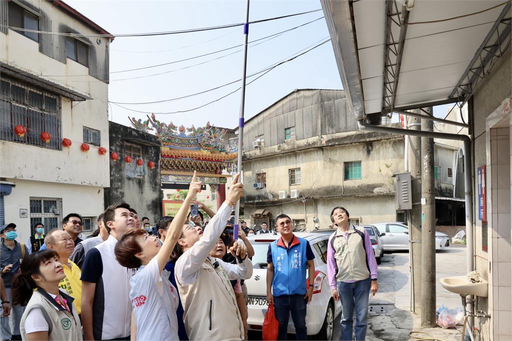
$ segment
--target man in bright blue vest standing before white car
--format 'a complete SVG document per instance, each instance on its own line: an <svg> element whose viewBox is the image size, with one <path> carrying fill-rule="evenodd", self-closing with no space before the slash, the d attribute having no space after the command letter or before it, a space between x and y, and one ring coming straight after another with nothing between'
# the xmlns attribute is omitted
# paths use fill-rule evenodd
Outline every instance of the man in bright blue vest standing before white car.
<svg viewBox="0 0 512 341"><path fill-rule="evenodd" d="M278 340L288 337L290 312L296 339L307 340L306 304L313 297L315 256L306 239L293 235L293 223L286 214L275 218L275 228L281 238L268 245L267 302L274 304L279 322ZM306 287L306 272L309 287Z"/></svg>

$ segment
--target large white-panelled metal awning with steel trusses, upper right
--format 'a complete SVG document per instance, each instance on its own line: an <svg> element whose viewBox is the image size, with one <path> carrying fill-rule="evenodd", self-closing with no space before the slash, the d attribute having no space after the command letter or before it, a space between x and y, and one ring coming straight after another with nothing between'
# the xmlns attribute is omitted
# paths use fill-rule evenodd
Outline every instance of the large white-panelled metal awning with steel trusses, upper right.
<svg viewBox="0 0 512 341"><path fill-rule="evenodd" d="M321 3L358 120L464 102L510 46L511 5L502 0Z"/></svg>

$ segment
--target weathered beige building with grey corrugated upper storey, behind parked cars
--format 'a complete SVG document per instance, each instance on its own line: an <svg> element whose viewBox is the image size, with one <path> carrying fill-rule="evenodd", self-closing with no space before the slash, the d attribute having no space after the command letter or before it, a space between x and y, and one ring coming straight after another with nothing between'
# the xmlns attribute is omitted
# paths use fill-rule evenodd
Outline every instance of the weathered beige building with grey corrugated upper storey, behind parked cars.
<svg viewBox="0 0 512 341"><path fill-rule="evenodd" d="M440 212L457 202L456 154L435 146ZM405 221L393 177L403 157L402 135L357 131L343 90L295 90L245 123L244 217L259 227L286 213L297 229L313 230L327 228L332 208L343 206L354 224ZM445 220L451 225L452 215Z"/></svg>

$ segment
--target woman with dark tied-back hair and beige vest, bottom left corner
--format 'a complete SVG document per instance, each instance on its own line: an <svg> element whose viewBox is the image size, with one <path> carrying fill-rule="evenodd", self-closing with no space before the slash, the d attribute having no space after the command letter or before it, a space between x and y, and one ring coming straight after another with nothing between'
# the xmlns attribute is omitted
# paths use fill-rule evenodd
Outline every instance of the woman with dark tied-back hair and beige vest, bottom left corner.
<svg viewBox="0 0 512 341"><path fill-rule="evenodd" d="M13 302L27 306L20 322L22 339L82 340L74 299L59 290L65 277L54 250L35 252L23 261L12 289Z"/></svg>

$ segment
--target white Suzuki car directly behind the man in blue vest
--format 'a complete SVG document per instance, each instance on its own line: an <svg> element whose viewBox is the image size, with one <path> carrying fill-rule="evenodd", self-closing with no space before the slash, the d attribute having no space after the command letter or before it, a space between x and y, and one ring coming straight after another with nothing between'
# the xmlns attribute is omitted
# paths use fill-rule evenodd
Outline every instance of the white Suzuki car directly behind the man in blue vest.
<svg viewBox="0 0 512 341"><path fill-rule="evenodd" d="M316 339L331 340L334 319L341 312L339 301L334 301L327 278L327 243L329 236L318 233L295 232L295 236L309 241L315 255L315 281L313 298L307 306L306 326L308 335L316 335ZM267 312L267 252L268 245L280 238L279 234L264 234L249 236L248 239L254 248L252 264L254 270L252 277L245 281L247 285L247 325L249 330L262 330L263 321ZM307 281L307 274L304 278ZM288 333L294 334L293 320L288 323Z"/></svg>

